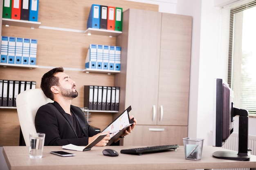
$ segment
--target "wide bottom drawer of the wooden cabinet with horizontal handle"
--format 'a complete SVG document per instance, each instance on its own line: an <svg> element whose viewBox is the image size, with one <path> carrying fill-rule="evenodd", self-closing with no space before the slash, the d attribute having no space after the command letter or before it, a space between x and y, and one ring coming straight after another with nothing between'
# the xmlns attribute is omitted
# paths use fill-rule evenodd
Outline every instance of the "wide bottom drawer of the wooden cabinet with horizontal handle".
<svg viewBox="0 0 256 170"><path fill-rule="evenodd" d="M182 138L185 137L187 137L187 126L136 125L132 133L124 138L124 146L157 146L174 144L183 146Z"/></svg>

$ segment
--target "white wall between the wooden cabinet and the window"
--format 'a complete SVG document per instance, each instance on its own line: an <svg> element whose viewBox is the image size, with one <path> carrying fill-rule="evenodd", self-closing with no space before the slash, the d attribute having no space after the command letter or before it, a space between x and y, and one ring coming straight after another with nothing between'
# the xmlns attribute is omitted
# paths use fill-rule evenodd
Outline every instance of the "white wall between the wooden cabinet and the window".
<svg viewBox="0 0 256 170"><path fill-rule="evenodd" d="M188 137L212 145L213 79L227 79L227 57L219 55L220 7L239 0L130 0L159 4L159 12L193 17ZM249 118L249 135L256 135ZM238 132L238 117L234 131Z"/></svg>

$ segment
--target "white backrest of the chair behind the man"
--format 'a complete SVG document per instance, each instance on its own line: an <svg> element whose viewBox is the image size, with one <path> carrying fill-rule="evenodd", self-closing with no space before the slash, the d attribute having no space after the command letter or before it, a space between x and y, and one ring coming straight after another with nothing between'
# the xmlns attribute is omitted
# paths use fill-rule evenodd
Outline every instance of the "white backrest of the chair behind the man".
<svg viewBox="0 0 256 170"><path fill-rule="evenodd" d="M17 96L16 107L26 146L30 145L29 133L36 132L35 117L38 108L49 102L53 101L40 88L23 91Z"/></svg>

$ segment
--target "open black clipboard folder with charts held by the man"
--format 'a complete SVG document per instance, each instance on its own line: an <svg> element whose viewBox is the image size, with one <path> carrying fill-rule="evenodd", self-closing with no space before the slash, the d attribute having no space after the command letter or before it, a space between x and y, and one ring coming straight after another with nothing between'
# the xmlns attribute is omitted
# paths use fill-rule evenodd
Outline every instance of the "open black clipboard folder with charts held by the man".
<svg viewBox="0 0 256 170"><path fill-rule="evenodd" d="M117 117L111 124L109 124L102 132L110 131L110 137L107 146L112 144L114 141L120 137L124 131L133 124L133 118L130 119L129 112L132 110L132 107L129 106L126 110L124 110L119 117Z"/></svg>

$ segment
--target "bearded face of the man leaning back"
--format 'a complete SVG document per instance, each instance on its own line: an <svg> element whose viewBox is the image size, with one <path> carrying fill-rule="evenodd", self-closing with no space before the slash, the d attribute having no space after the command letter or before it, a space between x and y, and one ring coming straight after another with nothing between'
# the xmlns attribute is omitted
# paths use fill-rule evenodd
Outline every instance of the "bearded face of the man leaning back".
<svg viewBox="0 0 256 170"><path fill-rule="evenodd" d="M76 82L70 79L69 75L63 72L58 72L55 76L59 78L58 87L60 88L61 95L70 98L75 98L78 96L78 92L76 91L75 85Z"/></svg>

